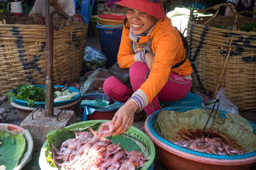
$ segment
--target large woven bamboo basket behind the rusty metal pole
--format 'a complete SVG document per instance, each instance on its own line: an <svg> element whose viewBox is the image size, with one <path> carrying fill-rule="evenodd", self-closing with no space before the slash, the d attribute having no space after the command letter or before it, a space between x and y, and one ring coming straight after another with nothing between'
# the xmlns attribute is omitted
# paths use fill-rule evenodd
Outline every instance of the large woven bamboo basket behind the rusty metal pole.
<svg viewBox="0 0 256 170"><path fill-rule="evenodd" d="M88 25L74 17L54 18L54 84L75 82L82 70ZM45 25L28 17L1 20L6 24L0 24L0 96L18 84L45 84Z"/></svg>

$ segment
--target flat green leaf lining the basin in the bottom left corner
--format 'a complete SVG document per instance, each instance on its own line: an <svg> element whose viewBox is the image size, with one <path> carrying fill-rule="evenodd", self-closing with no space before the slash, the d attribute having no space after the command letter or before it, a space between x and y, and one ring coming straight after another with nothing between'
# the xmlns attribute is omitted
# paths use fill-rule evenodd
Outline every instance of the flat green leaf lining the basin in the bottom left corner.
<svg viewBox="0 0 256 170"><path fill-rule="evenodd" d="M13 170L26 150L25 137L22 133L10 135L6 131L0 131L0 140L0 165L6 166L6 170Z"/></svg>

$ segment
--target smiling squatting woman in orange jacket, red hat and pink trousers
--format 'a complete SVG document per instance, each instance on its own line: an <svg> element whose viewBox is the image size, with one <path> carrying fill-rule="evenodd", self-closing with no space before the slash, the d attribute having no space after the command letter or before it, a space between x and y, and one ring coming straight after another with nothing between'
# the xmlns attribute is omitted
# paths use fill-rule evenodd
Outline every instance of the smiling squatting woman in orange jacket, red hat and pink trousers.
<svg viewBox="0 0 256 170"><path fill-rule="evenodd" d="M113 76L103 84L108 97L125 103L112 119L113 135L128 130L135 112L144 109L150 115L160 109L159 100L180 100L192 85L191 63L180 34L164 13L162 0L121 0L116 4L127 7L117 61L121 68L129 68L132 88ZM172 68L182 60L182 65Z"/></svg>

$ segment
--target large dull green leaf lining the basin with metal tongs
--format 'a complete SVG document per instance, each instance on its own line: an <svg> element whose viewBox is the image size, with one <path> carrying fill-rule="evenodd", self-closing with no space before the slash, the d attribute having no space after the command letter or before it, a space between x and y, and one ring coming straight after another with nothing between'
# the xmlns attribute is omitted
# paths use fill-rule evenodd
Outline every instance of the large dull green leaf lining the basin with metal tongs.
<svg viewBox="0 0 256 170"><path fill-rule="evenodd" d="M156 130L169 141L194 140L199 137L204 128L211 110L197 108L186 112L175 112L164 110L159 113L155 122ZM213 121L213 111L205 131L209 132ZM194 135L184 135L187 132L194 132ZM245 152L256 150L256 135L254 128L243 117L237 114L227 113L226 117L220 116L217 112L211 134L225 138L225 142L236 144Z"/></svg>

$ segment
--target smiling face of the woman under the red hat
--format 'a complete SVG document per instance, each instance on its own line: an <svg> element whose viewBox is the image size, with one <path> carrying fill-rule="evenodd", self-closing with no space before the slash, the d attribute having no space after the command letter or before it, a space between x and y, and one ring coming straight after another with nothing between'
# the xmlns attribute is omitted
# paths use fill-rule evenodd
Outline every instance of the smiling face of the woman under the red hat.
<svg viewBox="0 0 256 170"><path fill-rule="evenodd" d="M127 9L126 17L134 34L141 34L148 31L156 20L152 15L131 8Z"/></svg>

